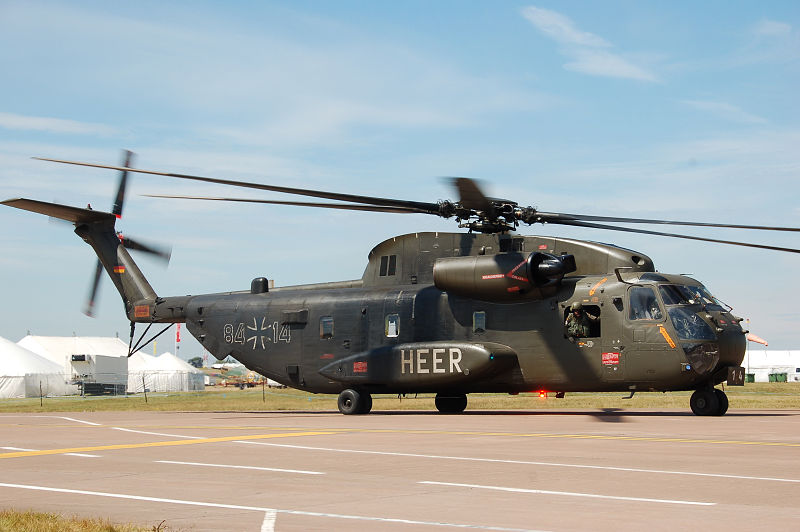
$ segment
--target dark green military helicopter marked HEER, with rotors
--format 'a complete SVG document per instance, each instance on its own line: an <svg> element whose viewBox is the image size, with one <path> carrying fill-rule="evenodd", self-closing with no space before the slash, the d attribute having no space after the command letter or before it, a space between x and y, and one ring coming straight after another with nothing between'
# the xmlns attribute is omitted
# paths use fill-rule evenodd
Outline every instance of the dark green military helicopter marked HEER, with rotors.
<svg viewBox="0 0 800 532"><path fill-rule="evenodd" d="M274 287L259 277L248 291L162 297L128 254L114 213L31 199L2 202L75 225L122 296L131 352L148 332L134 345L137 323L148 330L185 323L220 360L232 356L286 386L339 394L343 414L369 413L372 394L435 393L439 412L460 413L467 394L477 392L633 397L694 390L695 414L723 415L728 399L715 386L744 384L746 331L732 308L695 279L657 272L643 253L514 230L520 223L550 223L800 253L609 224L798 228L543 212L487 197L468 178L453 179L458 201L429 203L143 170L130 159L122 166L43 160L118 170L123 191L128 173L138 172L341 203L158 197L455 218L467 232L409 233L376 245L360 279Z"/></svg>

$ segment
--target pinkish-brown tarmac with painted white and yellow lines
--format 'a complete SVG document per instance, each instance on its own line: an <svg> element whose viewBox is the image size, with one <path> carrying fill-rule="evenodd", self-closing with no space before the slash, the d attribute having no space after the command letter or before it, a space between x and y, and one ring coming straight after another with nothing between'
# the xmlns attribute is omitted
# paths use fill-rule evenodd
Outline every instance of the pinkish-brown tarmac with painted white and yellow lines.
<svg viewBox="0 0 800 532"><path fill-rule="evenodd" d="M167 530L800 530L800 411L0 414L0 507Z"/></svg>

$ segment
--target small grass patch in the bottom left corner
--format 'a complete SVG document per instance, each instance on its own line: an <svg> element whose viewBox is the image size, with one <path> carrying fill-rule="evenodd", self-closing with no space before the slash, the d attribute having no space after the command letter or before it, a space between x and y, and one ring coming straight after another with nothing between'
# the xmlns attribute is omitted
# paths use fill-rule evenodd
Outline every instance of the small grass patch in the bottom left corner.
<svg viewBox="0 0 800 532"><path fill-rule="evenodd" d="M0 532L166 532L162 524L152 527L113 524L106 519L64 517L54 513L0 510Z"/></svg>

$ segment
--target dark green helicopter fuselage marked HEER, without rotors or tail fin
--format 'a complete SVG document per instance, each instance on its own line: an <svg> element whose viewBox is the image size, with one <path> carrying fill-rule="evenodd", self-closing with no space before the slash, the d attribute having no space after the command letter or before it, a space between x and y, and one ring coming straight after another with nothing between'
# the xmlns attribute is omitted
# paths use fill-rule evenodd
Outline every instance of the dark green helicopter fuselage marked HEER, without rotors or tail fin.
<svg viewBox="0 0 800 532"><path fill-rule="evenodd" d="M574 257L575 270L537 283L520 267L535 254ZM580 335L566 324L576 302L593 318ZM549 237L404 235L373 249L360 280L256 279L148 310L132 317L185 321L218 359L314 393L690 390L726 380L745 349L740 320L699 282Z"/></svg>

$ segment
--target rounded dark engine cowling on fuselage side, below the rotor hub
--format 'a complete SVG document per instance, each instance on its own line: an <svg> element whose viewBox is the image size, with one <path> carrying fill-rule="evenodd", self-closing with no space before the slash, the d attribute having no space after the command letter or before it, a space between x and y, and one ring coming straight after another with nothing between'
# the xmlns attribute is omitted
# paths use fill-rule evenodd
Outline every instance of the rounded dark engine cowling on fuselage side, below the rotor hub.
<svg viewBox="0 0 800 532"><path fill-rule="evenodd" d="M498 253L439 259L433 283L449 294L492 302L549 297L576 270L572 255Z"/></svg>

